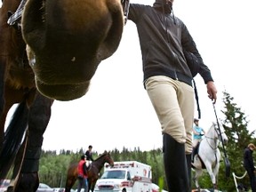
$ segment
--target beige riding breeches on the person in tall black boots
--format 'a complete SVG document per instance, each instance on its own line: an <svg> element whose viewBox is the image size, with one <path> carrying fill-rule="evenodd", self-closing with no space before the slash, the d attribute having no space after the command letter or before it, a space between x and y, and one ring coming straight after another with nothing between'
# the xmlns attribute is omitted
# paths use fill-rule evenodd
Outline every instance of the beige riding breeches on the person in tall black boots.
<svg viewBox="0 0 256 192"><path fill-rule="evenodd" d="M186 154L190 154L194 119L193 87L167 76L151 76L145 85L162 132L170 134L180 143L186 143Z"/></svg>

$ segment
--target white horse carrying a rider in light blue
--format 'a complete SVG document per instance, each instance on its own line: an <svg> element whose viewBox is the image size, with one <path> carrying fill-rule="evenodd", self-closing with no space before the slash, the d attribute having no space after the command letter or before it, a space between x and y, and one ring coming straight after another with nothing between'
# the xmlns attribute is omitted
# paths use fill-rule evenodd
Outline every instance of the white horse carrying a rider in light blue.
<svg viewBox="0 0 256 192"><path fill-rule="evenodd" d="M198 178L202 175L204 169L207 170L212 180L212 185L215 189L217 188L217 176L220 168L220 150L218 148L221 140L224 143L228 142L228 137L225 130L220 124L212 123L209 131L204 135L204 139L201 140L198 148L198 153L195 156L192 168L195 170L195 176L193 178L196 188L200 191L198 184Z"/></svg>

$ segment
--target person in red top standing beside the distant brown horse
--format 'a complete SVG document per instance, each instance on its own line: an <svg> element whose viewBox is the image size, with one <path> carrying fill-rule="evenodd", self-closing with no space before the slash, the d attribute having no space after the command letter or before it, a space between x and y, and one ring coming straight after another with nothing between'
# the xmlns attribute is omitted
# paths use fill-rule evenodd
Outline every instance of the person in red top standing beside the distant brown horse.
<svg viewBox="0 0 256 192"><path fill-rule="evenodd" d="M84 192L87 192L88 190L88 176L86 171L86 164L85 164L85 156L81 156L81 160L78 163L77 166L77 172L78 172L78 188L77 192L80 192L82 188L84 188Z"/></svg>

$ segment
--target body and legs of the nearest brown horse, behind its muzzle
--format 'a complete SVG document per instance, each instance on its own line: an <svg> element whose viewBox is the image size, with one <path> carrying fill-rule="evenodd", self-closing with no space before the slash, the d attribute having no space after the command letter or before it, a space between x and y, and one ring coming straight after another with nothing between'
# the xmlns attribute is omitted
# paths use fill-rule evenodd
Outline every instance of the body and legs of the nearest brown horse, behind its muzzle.
<svg viewBox="0 0 256 192"><path fill-rule="evenodd" d="M0 8L0 179L14 166L8 191L35 192L53 100L37 92L21 31L7 24L8 12L15 12L19 4L4 0ZM14 104L18 106L4 132L7 113Z"/></svg>

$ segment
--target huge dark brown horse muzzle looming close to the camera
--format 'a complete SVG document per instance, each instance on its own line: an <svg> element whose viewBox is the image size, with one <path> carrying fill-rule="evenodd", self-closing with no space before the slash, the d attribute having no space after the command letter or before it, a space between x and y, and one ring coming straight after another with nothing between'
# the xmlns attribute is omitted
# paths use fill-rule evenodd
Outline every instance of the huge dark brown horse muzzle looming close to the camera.
<svg viewBox="0 0 256 192"><path fill-rule="evenodd" d="M21 23L39 92L75 100L101 60L116 52L124 14L120 0L28 0Z"/></svg>

